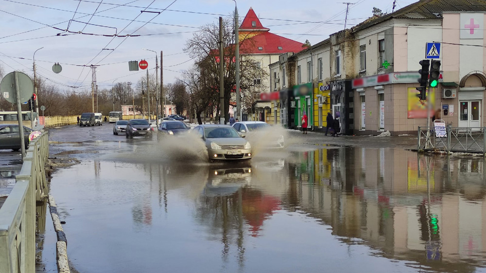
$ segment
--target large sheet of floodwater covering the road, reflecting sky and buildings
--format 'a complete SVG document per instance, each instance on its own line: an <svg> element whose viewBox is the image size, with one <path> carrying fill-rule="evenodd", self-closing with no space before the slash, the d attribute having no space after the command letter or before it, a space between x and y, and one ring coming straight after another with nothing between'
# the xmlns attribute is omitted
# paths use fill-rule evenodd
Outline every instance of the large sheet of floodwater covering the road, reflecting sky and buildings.
<svg viewBox="0 0 486 273"><path fill-rule="evenodd" d="M316 147L85 160L52 178L80 272L486 271L482 158ZM121 160L123 159L123 160Z"/></svg>

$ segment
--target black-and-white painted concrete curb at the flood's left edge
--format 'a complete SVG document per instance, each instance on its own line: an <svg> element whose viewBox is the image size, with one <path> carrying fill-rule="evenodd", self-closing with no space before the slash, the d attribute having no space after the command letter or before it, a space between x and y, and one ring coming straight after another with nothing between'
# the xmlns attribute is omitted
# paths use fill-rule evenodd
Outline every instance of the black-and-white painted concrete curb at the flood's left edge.
<svg viewBox="0 0 486 273"><path fill-rule="evenodd" d="M66 234L59 220L59 215L57 214L56 202L52 195L49 194L49 207L52 216L52 223L54 224L54 230L57 234L56 243L56 260L57 260L57 272L59 273L70 273L69 263L68 263L68 240L66 239Z"/></svg>

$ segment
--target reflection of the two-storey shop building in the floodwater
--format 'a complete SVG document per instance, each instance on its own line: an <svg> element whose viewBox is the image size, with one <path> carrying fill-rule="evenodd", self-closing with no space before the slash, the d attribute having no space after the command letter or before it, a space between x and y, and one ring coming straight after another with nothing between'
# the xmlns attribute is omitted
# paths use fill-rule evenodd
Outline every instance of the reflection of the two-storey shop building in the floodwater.
<svg viewBox="0 0 486 273"><path fill-rule="evenodd" d="M298 160L289 164L295 177L283 199L286 209L321 219L342 240L363 239L389 258L439 271L469 272L486 265L482 158L417 156L384 148L294 156Z"/></svg>

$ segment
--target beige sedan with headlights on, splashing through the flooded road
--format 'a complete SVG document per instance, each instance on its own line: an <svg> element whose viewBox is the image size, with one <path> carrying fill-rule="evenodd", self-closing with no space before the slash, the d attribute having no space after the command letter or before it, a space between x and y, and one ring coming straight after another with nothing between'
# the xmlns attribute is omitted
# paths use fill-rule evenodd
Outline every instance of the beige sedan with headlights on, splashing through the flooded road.
<svg viewBox="0 0 486 273"><path fill-rule="evenodd" d="M224 124L201 124L192 129L206 143L209 161L224 159L250 159L251 145L243 133Z"/></svg>

